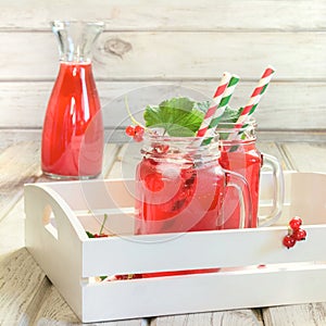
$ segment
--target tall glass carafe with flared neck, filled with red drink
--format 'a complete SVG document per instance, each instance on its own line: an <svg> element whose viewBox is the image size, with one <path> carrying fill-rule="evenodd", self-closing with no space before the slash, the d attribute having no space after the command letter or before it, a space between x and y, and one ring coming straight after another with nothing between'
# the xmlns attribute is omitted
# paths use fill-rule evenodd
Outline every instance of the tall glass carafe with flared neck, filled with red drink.
<svg viewBox="0 0 326 326"><path fill-rule="evenodd" d="M92 178L102 168L103 122L90 57L104 24L55 21L51 26L60 70L43 123L41 168L53 178Z"/></svg>

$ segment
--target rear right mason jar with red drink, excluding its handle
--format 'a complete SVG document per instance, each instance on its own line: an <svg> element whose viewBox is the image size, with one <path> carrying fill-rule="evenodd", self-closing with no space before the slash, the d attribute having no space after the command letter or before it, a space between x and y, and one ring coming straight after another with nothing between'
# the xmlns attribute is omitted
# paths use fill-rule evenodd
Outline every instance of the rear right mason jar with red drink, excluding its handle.
<svg viewBox="0 0 326 326"><path fill-rule="evenodd" d="M223 208L223 223L220 229L243 228L258 226L260 173L262 154L255 147L254 123L243 127L223 123L217 131L221 137L220 164L223 168L242 175L249 186L251 197L251 218L241 225L239 197L235 188L229 187L225 193L227 205Z"/></svg>

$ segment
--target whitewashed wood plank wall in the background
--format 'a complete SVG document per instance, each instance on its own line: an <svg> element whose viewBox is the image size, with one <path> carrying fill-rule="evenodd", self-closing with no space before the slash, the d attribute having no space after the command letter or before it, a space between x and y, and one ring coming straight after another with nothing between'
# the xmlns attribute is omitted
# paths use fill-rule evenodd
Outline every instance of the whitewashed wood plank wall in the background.
<svg viewBox="0 0 326 326"><path fill-rule="evenodd" d="M258 108L261 130L326 135L325 0L0 0L0 131L40 131L58 72L49 22L102 20L93 51L105 127L128 124L171 95L211 97L224 71L240 76L231 105L263 70L276 75ZM172 86L171 86L172 85Z"/></svg>

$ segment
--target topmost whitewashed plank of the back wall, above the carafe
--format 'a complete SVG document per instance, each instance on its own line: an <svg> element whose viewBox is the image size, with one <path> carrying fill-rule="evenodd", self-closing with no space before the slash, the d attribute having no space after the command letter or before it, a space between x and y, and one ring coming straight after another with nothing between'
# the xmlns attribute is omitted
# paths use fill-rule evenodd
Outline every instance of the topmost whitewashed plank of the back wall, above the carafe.
<svg viewBox="0 0 326 326"><path fill-rule="evenodd" d="M53 18L104 20L108 29L321 29L325 1L2 1L0 28L45 29ZM141 22L141 23L140 23Z"/></svg>

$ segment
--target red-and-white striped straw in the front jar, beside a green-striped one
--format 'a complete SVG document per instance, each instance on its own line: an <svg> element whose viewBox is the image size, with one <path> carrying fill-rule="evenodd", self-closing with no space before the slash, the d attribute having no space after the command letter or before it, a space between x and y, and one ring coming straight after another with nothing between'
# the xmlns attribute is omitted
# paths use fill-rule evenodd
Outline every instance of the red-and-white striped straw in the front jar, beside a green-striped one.
<svg viewBox="0 0 326 326"><path fill-rule="evenodd" d="M209 126L211 124L211 121L212 118L214 117L214 114L223 99L223 95L227 88L227 85L229 83L231 78L231 75L229 73L224 73L222 78L221 78L221 82L220 82L220 85L217 86L217 89L214 93L214 97L213 97L213 104L210 106L210 109L208 110L204 118L203 118L203 122L201 123L198 131L197 131L197 137L202 137L206 134L206 130L209 129Z"/></svg>

